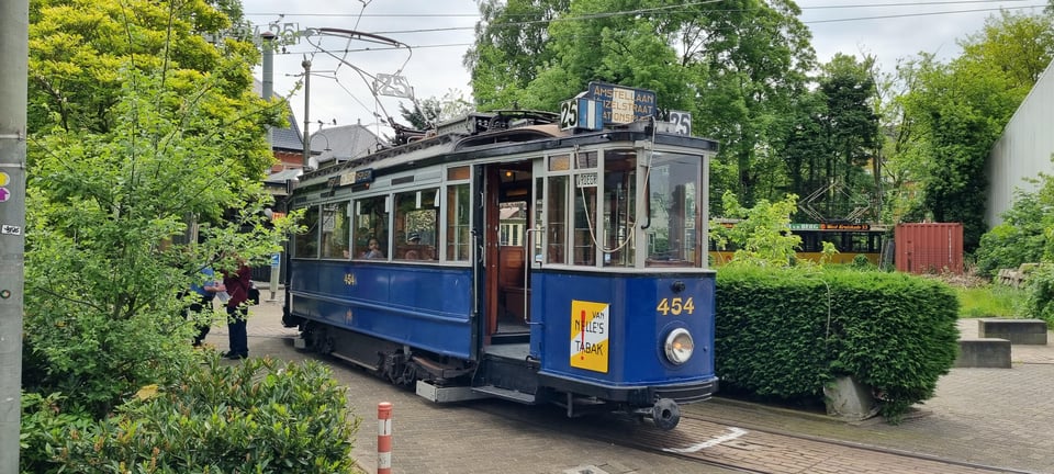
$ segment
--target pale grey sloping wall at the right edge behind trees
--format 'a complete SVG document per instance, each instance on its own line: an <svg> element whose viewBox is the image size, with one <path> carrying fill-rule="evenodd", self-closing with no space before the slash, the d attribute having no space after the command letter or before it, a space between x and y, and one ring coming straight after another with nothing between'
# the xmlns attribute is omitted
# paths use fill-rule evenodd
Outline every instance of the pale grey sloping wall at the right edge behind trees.
<svg viewBox="0 0 1054 474"><path fill-rule="evenodd" d="M988 207L985 221L989 227L1002 223L1002 213L1013 204L1014 189L1034 191L1025 178L1040 172L1054 174L1054 61L1013 113L988 157Z"/></svg>

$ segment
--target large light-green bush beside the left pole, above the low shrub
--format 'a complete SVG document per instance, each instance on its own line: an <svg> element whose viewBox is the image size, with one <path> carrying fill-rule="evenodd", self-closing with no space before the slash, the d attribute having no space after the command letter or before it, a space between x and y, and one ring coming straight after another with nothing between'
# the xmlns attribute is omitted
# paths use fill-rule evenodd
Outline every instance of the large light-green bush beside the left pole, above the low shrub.
<svg viewBox="0 0 1054 474"><path fill-rule="evenodd" d="M208 121L193 103L181 116L159 113L155 101L179 101L175 92L156 77L122 77L138 89L126 89L114 108L119 124L105 134L55 128L38 138L26 191L24 347L36 370L24 385L61 392L97 415L122 394L176 375L193 330L177 295L200 268L232 268L232 257L213 261L222 251L267 256L288 229L265 227L258 211L270 198L245 178L259 170L245 170L218 137L186 132ZM171 242L186 216L226 208L237 212L206 224L205 244Z"/></svg>

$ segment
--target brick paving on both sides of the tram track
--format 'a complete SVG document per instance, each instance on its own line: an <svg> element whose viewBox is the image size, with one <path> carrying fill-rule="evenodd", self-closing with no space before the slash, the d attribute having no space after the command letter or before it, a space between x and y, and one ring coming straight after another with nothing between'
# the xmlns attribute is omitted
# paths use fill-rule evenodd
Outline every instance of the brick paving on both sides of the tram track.
<svg viewBox="0 0 1054 474"><path fill-rule="evenodd" d="M264 295L267 297L267 291ZM964 337L977 335L976 320L961 320L960 328ZM291 349L296 331L281 326L280 301L254 306L248 332L250 357L281 352L287 359L309 358ZM226 328L216 326L208 342L225 350L226 339ZM1049 339L1054 340L1054 336L1049 335ZM1054 346L1016 345L1011 359L1011 369L952 369L939 381L937 396L897 426L881 419L850 424L821 414L721 397L689 405L686 411L748 429L772 429L1017 472L1054 474ZM374 425L370 421L375 417L375 404L382 402L379 397L391 398L384 400L396 406L393 463L399 473L578 474L592 467L596 467L593 472L597 474L700 472L698 464L672 458L627 452L631 450L574 440L569 435L539 432L529 426L513 427L509 424L515 421L487 415L485 410L422 404L413 393L393 390L358 372L335 372L349 384L349 400L355 413L363 418L354 454L368 472L375 466ZM444 436L434 435L437 427ZM560 448L553 451L552 445ZM441 455L436 454L440 452Z"/></svg>

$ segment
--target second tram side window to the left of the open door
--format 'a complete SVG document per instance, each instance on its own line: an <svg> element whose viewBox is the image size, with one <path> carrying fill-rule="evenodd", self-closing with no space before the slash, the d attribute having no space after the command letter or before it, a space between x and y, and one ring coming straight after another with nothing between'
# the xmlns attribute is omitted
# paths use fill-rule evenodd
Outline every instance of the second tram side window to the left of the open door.
<svg viewBox="0 0 1054 474"><path fill-rule="evenodd" d="M396 260L436 260L439 190L436 188L395 194Z"/></svg>

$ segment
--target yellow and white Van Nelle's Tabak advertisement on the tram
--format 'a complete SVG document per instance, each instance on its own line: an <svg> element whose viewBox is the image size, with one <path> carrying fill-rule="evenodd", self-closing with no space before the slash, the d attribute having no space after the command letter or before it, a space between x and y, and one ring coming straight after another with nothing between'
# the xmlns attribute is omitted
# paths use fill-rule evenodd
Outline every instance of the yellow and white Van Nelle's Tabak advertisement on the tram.
<svg viewBox="0 0 1054 474"><path fill-rule="evenodd" d="M610 305L571 300L571 366L607 373Z"/></svg>

